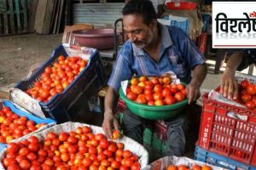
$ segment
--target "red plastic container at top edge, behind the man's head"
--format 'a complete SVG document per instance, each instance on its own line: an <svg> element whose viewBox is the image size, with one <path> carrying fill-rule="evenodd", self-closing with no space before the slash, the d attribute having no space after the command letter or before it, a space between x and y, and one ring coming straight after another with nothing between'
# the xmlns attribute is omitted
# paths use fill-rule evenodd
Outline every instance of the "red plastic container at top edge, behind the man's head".
<svg viewBox="0 0 256 170"><path fill-rule="evenodd" d="M174 10L193 10L197 7L197 3L190 2L169 2L166 7Z"/></svg>

